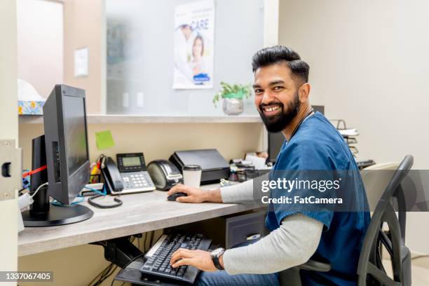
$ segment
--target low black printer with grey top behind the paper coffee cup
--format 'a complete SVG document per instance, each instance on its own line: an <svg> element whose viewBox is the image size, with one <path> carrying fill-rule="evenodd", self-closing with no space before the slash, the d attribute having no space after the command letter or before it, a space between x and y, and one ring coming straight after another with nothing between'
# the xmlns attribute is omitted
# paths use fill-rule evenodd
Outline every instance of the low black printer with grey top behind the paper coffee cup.
<svg viewBox="0 0 429 286"><path fill-rule="evenodd" d="M175 151L169 160L180 172L184 165L200 165L201 184L213 184L229 177L229 164L216 149Z"/></svg>

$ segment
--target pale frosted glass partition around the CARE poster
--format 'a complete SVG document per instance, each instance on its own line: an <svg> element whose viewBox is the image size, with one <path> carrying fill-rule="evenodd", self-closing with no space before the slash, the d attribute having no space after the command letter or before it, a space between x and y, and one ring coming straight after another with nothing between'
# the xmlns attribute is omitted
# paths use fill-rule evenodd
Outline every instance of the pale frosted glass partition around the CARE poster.
<svg viewBox="0 0 429 286"><path fill-rule="evenodd" d="M253 53L264 46L264 0L214 1L214 88L172 88L175 8L195 1L107 0L107 113L223 114L220 81L252 83ZM219 106L220 105L220 106ZM257 115L253 99L244 114Z"/></svg>

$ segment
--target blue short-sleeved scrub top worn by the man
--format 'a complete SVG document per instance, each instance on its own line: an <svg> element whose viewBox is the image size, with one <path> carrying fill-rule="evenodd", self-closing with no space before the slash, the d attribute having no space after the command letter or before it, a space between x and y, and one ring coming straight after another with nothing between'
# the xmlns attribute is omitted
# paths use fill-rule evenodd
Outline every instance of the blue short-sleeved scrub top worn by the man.
<svg viewBox="0 0 429 286"><path fill-rule="evenodd" d="M281 170L352 170L359 172L355 158L341 134L327 118L316 112L301 123L289 142L280 149L273 172ZM368 210L367 198L360 175L355 176L353 189L360 210ZM279 192L271 192L277 198ZM314 259L329 261L327 273L301 271L303 285L357 285L357 263L369 225L369 212L334 212L332 210L297 210L287 206L269 205L266 226L278 229L282 219L300 212L324 224Z"/></svg>

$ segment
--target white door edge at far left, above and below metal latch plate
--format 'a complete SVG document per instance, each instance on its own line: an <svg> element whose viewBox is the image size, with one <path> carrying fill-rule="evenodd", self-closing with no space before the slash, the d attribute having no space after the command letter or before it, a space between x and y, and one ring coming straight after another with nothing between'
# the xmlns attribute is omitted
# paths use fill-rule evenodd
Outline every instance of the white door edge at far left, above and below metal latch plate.
<svg viewBox="0 0 429 286"><path fill-rule="evenodd" d="M0 34L0 139L15 139L18 144L15 1L0 1ZM17 210L16 199L0 200L0 271L18 268Z"/></svg>

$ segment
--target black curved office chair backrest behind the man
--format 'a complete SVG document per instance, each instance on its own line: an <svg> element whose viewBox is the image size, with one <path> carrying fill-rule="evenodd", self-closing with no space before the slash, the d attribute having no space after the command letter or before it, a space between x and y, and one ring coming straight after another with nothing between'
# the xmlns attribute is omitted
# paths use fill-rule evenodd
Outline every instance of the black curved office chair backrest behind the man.
<svg viewBox="0 0 429 286"><path fill-rule="evenodd" d="M411 285L411 254L404 245L407 212L401 182L413 162L413 156L405 156L372 214L357 266L358 286ZM393 198L397 202L398 216L393 207ZM383 231L384 223L388 225L388 232ZM382 246L386 247L390 254L393 279L388 277L383 268Z"/></svg>

